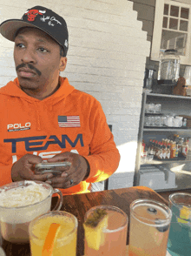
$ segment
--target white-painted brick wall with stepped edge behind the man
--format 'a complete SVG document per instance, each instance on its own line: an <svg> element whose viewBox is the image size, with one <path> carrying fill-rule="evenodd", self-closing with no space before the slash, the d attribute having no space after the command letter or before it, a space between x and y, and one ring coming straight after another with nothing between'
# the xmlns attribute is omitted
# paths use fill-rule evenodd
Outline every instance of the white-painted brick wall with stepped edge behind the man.
<svg viewBox="0 0 191 256"><path fill-rule="evenodd" d="M0 0L0 22L20 18L35 5L46 6L65 18L69 53L62 75L76 89L87 91L101 102L122 156L117 172L133 173L142 80L150 49L133 3L127 0L3 2ZM0 86L16 76L12 54L13 43L0 36Z"/></svg>

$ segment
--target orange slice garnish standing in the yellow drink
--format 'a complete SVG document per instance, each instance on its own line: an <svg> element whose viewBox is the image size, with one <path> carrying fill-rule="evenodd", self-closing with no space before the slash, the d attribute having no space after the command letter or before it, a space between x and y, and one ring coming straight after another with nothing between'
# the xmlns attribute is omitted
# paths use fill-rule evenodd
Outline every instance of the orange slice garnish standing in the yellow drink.
<svg viewBox="0 0 191 256"><path fill-rule="evenodd" d="M43 244L42 256L51 256L54 248L55 239L57 233L60 230L61 225L57 223L51 223L49 226L49 232L47 233L46 239Z"/></svg>

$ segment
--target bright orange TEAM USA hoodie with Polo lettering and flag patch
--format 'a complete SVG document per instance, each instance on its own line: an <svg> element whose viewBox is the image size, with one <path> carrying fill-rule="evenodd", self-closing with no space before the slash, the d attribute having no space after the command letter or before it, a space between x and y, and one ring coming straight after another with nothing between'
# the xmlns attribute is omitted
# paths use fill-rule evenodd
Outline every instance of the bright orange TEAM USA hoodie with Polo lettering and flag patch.
<svg viewBox="0 0 191 256"><path fill-rule="evenodd" d="M12 182L12 164L27 153L47 159L76 152L89 161L89 178L61 189L63 194L88 192L89 183L108 179L118 167L120 155L101 104L67 78L60 77L60 82L43 100L23 92L17 78L0 89L0 185ZM76 117L78 125L69 124L69 117Z"/></svg>

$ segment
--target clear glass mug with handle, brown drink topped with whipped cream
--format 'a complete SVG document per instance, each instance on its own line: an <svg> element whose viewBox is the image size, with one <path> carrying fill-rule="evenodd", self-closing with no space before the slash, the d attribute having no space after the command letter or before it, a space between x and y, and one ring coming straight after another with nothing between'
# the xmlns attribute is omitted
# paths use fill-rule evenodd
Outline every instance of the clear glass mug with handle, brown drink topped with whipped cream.
<svg viewBox="0 0 191 256"><path fill-rule="evenodd" d="M0 187L0 223L5 240L29 243L30 221L49 212L53 194L58 201L53 211L63 205L63 193L45 182L23 180Z"/></svg>

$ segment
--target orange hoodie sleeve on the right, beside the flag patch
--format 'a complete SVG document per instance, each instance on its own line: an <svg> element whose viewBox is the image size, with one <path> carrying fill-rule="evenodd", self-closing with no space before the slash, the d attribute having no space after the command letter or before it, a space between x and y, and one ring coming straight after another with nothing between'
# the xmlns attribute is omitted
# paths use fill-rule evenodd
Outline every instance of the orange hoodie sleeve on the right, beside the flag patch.
<svg viewBox="0 0 191 256"><path fill-rule="evenodd" d="M120 161L102 106L99 102L96 103L89 118L90 130L93 132L90 153L89 156L83 156L89 162L90 172L86 181L90 183L108 179L116 171Z"/></svg>

